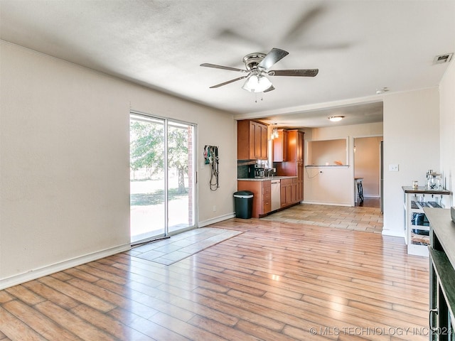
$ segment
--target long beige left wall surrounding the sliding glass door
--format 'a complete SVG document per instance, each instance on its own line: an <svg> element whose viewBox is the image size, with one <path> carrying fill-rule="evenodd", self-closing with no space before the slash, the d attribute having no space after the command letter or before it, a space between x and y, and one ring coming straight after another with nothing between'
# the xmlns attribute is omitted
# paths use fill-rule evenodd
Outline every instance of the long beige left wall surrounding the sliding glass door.
<svg viewBox="0 0 455 341"><path fill-rule="evenodd" d="M0 47L0 288L129 249L130 109L198 124L198 222L233 215L231 114ZM205 144L220 147L215 192Z"/></svg>

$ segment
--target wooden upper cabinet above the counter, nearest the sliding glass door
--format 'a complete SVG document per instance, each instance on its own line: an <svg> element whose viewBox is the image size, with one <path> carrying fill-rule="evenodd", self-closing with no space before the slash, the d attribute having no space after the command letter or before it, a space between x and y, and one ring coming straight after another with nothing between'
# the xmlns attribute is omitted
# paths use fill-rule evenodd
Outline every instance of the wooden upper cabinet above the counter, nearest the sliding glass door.
<svg viewBox="0 0 455 341"><path fill-rule="evenodd" d="M237 121L237 159L267 160L266 124L244 119Z"/></svg>

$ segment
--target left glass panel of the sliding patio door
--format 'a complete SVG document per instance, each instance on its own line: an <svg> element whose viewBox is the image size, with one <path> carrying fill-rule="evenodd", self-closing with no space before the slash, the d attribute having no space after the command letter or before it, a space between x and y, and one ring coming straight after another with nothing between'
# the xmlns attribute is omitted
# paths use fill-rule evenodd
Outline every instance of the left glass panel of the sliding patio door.
<svg viewBox="0 0 455 341"><path fill-rule="evenodd" d="M164 120L131 115L130 231L131 241L166 233Z"/></svg>

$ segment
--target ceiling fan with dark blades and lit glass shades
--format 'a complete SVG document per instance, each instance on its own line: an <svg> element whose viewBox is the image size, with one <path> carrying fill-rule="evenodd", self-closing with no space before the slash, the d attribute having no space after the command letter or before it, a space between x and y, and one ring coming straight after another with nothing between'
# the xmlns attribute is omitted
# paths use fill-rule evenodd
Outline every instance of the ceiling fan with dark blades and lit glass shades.
<svg viewBox="0 0 455 341"><path fill-rule="evenodd" d="M234 80L228 80L217 85L213 85L210 89L216 87L222 87L223 85L237 82L237 80L247 79L242 89L250 92L269 92L274 90L272 82L267 76L293 76L293 77L314 77L318 74L318 69L289 69L289 70L269 70L275 63L282 60L284 57L289 55L289 52L281 50L279 48L272 48L269 53L250 53L245 55L243 62L245 63L245 69L237 69L236 67L229 67L223 65L215 65L204 63L200 66L213 67L215 69L223 69L230 71L237 71L245 73L241 77L237 77Z"/></svg>

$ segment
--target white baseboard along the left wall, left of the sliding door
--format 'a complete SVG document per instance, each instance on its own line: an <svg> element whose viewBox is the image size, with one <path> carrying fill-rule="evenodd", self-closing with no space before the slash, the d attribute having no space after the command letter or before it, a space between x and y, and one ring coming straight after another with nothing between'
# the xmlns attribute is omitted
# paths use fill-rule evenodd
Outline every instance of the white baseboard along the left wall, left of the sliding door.
<svg viewBox="0 0 455 341"><path fill-rule="evenodd" d="M55 272L70 269L73 268L74 266L85 264L90 261L96 261L97 259L112 256L113 254L119 254L120 252L128 251L130 249L131 249L130 244L124 244L118 247L112 247L110 249L97 251L92 254L86 254L85 256L79 256L73 259L68 259L66 261L60 261L59 263L56 264L43 266L42 268L27 271L23 274L14 275L7 278L1 278L0 290L9 288L10 286L17 286L18 284L32 281L33 279L36 278L48 276L50 274L55 274Z"/></svg>

